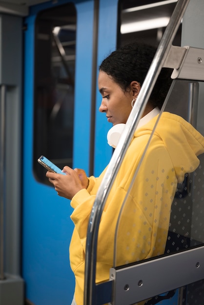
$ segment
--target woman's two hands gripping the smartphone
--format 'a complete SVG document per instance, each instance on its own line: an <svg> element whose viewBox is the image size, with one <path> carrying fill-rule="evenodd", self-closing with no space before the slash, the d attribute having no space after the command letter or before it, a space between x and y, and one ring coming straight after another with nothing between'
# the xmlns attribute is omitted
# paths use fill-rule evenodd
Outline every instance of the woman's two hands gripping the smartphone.
<svg viewBox="0 0 204 305"><path fill-rule="evenodd" d="M72 199L74 195L88 186L88 178L81 169L71 169L68 166L63 168L66 175L55 172L46 172L46 177L54 185L58 195L67 199Z"/></svg>

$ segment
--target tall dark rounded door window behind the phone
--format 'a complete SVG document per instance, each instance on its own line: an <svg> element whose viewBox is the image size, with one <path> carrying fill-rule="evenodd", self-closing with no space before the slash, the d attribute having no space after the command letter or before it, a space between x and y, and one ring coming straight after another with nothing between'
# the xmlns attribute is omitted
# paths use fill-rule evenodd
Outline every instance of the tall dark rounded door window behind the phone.
<svg viewBox="0 0 204 305"><path fill-rule="evenodd" d="M72 167L76 9L73 3L42 11L35 24L34 153L37 178L47 184L37 159Z"/></svg>

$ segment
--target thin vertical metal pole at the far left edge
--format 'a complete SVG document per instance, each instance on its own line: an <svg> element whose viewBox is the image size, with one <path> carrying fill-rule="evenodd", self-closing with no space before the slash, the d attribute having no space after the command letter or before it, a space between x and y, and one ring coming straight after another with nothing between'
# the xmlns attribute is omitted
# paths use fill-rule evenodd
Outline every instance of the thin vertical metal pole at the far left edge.
<svg viewBox="0 0 204 305"><path fill-rule="evenodd" d="M0 87L0 280L4 279L5 111L6 86Z"/></svg>

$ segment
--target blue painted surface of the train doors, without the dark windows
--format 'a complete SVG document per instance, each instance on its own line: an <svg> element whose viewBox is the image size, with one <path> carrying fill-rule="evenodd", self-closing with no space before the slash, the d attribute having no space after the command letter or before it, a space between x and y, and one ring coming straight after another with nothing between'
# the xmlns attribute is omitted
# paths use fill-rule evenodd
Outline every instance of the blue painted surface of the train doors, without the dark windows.
<svg viewBox="0 0 204 305"><path fill-rule="evenodd" d="M33 173L34 32L37 14L57 4L51 1L31 7L25 19L23 106L23 221L22 276L26 299L35 305L71 304L74 276L69 266L69 243L73 230L69 200L39 183ZM77 10L74 167L89 170L90 101L93 48L94 1L74 0ZM100 1L98 62L116 47L117 0ZM98 89L97 89L98 90ZM97 175L107 165L112 149L107 145L110 126L98 114L101 97L96 96L95 168Z"/></svg>

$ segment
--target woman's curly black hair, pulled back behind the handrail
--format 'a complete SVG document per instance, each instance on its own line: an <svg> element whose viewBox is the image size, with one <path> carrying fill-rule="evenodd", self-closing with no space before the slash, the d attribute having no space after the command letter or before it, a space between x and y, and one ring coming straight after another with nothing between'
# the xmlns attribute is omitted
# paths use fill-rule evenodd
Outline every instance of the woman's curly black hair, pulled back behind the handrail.
<svg viewBox="0 0 204 305"><path fill-rule="evenodd" d="M155 47L142 43L126 44L106 57L99 66L99 70L111 76L122 90L128 91L133 80L143 85L156 50ZM171 69L163 68L158 76L149 99L153 107L157 106L161 109L172 82L171 73Z"/></svg>

